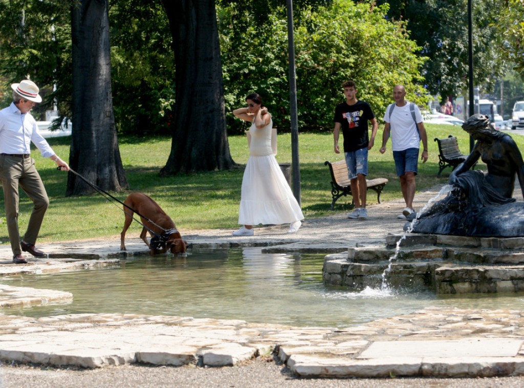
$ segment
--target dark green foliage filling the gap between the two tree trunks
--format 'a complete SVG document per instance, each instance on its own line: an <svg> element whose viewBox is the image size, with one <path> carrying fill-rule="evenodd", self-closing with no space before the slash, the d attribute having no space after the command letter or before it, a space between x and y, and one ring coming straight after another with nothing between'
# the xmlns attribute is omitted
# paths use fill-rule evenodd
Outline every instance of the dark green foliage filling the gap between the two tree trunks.
<svg viewBox="0 0 524 388"><path fill-rule="evenodd" d="M112 88L117 130L139 136L169 133L174 56L166 13L160 2L112 3Z"/></svg>

